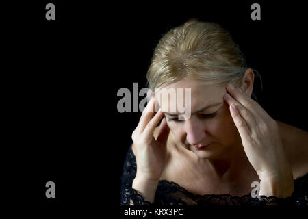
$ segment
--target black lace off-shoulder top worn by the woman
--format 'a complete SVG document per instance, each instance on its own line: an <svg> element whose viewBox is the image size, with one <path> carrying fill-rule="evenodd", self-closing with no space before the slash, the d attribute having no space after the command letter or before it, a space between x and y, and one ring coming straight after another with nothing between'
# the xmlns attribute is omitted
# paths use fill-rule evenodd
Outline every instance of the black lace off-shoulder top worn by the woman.
<svg viewBox="0 0 308 219"><path fill-rule="evenodd" d="M131 185L136 176L136 157L131 146L127 151L121 176L120 205L308 205L308 173L294 180L294 192L290 198L277 198L274 196L252 198L251 194L241 197L229 194L192 194L177 183L159 181L154 203L145 201Z"/></svg>

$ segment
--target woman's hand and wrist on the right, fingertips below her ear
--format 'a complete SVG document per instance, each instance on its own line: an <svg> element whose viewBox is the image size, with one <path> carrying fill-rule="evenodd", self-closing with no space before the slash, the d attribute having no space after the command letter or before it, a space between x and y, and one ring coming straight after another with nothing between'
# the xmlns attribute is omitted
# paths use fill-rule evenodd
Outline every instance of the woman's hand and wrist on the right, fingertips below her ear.
<svg viewBox="0 0 308 219"><path fill-rule="evenodd" d="M227 86L224 100L230 106L246 156L261 181L260 195L290 196L293 175L277 122L240 88Z"/></svg>

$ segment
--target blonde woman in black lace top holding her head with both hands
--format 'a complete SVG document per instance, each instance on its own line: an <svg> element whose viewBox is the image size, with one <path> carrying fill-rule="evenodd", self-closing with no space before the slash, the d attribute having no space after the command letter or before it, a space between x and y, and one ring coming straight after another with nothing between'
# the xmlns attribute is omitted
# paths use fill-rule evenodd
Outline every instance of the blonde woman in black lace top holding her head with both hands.
<svg viewBox="0 0 308 219"><path fill-rule="evenodd" d="M193 19L168 31L147 79L166 89L133 131L121 205L307 205L308 134L251 99L255 74L220 25ZM191 89L185 119L177 97L159 98L178 88Z"/></svg>

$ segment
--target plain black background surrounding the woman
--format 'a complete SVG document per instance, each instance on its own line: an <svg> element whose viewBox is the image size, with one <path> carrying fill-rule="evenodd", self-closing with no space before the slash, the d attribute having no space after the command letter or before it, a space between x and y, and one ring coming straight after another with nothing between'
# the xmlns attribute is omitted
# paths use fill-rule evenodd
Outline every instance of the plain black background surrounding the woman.
<svg viewBox="0 0 308 219"><path fill-rule="evenodd" d="M117 92L132 92L133 82L144 88L159 38L193 17L229 30L261 74L264 89L256 81L255 93L262 107L307 131L307 18L300 1L98 2L2 8L3 181L12 203L49 214L118 209L123 162L141 113L119 113ZM55 21L45 19L47 3L55 4ZM261 5L261 21L251 20L252 3ZM55 199L45 197L47 181L55 182Z"/></svg>

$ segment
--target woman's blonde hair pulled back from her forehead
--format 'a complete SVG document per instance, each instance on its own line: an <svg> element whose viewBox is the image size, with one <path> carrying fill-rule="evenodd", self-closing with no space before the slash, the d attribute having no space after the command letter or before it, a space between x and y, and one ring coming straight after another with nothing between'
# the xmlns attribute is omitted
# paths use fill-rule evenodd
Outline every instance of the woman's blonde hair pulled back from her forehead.
<svg viewBox="0 0 308 219"><path fill-rule="evenodd" d="M159 40L146 78L151 90L184 77L239 86L246 69L245 57L227 30L192 18Z"/></svg>

